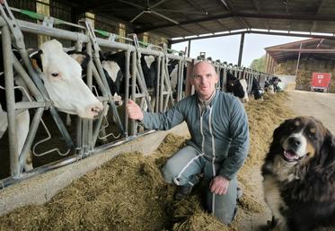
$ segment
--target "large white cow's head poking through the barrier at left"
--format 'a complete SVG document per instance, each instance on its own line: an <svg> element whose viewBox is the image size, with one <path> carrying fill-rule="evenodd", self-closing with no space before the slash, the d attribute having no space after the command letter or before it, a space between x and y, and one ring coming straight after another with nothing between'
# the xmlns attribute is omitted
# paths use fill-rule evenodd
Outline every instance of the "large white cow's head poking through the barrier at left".
<svg viewBox="0 0 335 231"><path fill-rule="evenodd" d="M49 40L43 43L32 59L40 67L40 76L59 111L92 119L103 109L101 102L84 84L82 67L66 54L60 42Z"/></svg>

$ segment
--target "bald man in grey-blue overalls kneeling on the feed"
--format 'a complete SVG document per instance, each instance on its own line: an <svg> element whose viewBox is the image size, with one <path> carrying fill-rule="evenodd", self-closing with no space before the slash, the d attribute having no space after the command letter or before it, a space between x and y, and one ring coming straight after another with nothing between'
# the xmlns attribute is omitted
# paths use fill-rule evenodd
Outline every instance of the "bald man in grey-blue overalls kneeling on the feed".
<svg viewBox="0 0 335 231"><path fill-rule="evenodd" d="M236 173L248 153L248 120L242 103L234 96L216 91L218 77L212 64L198 62L190 84L196 94L160 113L141 111L135 102L127 105L128 116L140 120L147 129L171 129L186 121L191 139L163 167L166 182L180 186L180 200L204 173L207 183L206 206L225 224L236 212Z"/></svg>

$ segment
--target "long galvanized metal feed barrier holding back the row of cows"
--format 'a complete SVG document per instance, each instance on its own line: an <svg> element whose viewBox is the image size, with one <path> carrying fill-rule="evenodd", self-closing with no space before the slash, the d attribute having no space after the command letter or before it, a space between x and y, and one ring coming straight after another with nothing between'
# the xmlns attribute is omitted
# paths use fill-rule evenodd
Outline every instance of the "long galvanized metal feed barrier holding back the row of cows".
<svg viewBox="0 0 335 231"><path fill-rule="evenodd" d="M44 173L51 169L57 167L74 163L80 159L85 158L88 155L93 155L95 153L100 153L110 147L116 147L124 144L134 138L144 136L145 134L152 133L152 130L146 130L145 132L137 132L137 122L131 120L130 128L128 124L128 115L125 113L124 117L119 117L119 112L114 103L114 98L110 93L110 88L107 84L106 76L101 67L101 61L99 57L99 51L101 49L118 49L125 52L125 95L124 101L128 103L128 99L131 98L133 101L139 100L142 106L147 105L148 111L166 111L169 106L172 106L175 102L180 101L183 97L187 96L187 92L183 93L182 85L183 82L187 82L187 76L183 76L183 69L185 66L188 67L188 76L191 73L191 67L194 63L193 58L185 58L185 56L177 56L169 54L165 46L156 47L153 45L144 44L137 41L136 35L133 35L131 39L124 38L127 42L120 43L116 42L115 34L93 30L89 22L84 21L83 24L74 24L71 22L64 22L57 19L50 20L47 18L46 23L38 24L33 22L25 22L21 20L16 20L11 13L11 8L4 2L3 5L0 4L0 11L2 17L0 17L0 27L2 31L2 46L4 49L4 79L5 79L5 92L6 92L6 102L7 102L7 115L8 115L8 139L9 139L9 153L10 153L10 170L11 176L0 181L0 189L14 182L20 182L23 179L31 177L32 175ZM37 19L46 19L46 17L40 14L33 14ZM48 23L47 23L48 22ZM74 26L81 30L80 32L75 31L65 31L57 28L53 28L53 24L65 23L67 25ZM110 110L116 121L117 127L121 134L121 138L105 144L101 147L96 147L96 141L99 138L99 132L101 131L101 124L103 120L103 114L93 122L93 120L83 120L77 119L76 124L76 144L73 143L66 126L60 119L53 102L50 101L48 97L48 92L46 91L43 83L40 80L38 72L31 66L31 61L25 48L23 34L32 33L39 35L46 35L56 39L69 40L75 42L75 49L81 50L83 46L86 46L86 52L93 57L87 67L87 85L94 91L94 88L98 87L101 91L101 95L98 99L102 102L104 110L107 110L107 105L110 105ZM95 36L95 33L99 33L105 37L101 39ZM11 36L13 40L11 40ZM22 56L23 65L13 56L12 44L15 45ZM144 46L145 48L141 47ZM158 49L158 50L157 50ZM145 76L140 65L140 58L142 55L154 56L157 60L157 84L155 92L155 102L152 104L150 93L145 85ZM177 92L175 98L172 94L172 88L170 83L170 76L168 73L167 65L170 59L178 60L178 79L177 79ZM206 59L202 57L202 59ZM211 60L210 60L211 61ZM220 74L223 70L224 77L223 82L217 84L217 89L225 91L225 80L226 72L228 69L234 72L235 76L240 78L244 75L247 80L249 87L249 93L251 92L251 83L253 77L269 76L267 74L255 72L252 70L243 70L242 67L236 67L233 65L227 65L226 63L221 63L219 60L216 62L211 61L216 67L216 72ZM14 92L13 92L13 69L21 76L23 82L27 85L29 92L31 93L30 102L14 102ZM130 76L131 74L131 76ZM0 76L2 77L2 76ZM130 81L131 77L131 81ZM93 86L93 78L97 83L97 86ZM131 84L131 89L129 91L128 86ZM187 83L186 83L187 84ZM190 86L189 86L190 87ZM188 86L186 86L188 88ZM24 142L22 152L18 153L17 150L17 140L15 134L15 113L18 111L24 111L29 109L35 109L34 116L31 120L31 126L28 133L28 137ZM75 148L75 155L64 158L60 161L53 162L50 164L45 164L38 168L35 168L28 172L23 172L23 165L26 159L30 155L31 146L33 140L36 136L37 129L40 125L40 121L45 110L50 111L50 114L57 124L62 137L65 139L66 147ZM104 111L106 112L106 111ZM48 127L48 126L47 126ZM128 130L130 134L128 135ZM33 148L34 149L34 148ZM52 151L52 150L51 150ZM50 152L50 150L49 150ZM46 153L49 153L46 152Z"/></svg>

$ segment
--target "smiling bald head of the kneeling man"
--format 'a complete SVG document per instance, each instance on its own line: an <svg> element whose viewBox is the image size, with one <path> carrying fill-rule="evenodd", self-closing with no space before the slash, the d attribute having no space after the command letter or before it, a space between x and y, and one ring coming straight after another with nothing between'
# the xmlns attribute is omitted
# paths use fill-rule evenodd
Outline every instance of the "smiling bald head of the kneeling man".
<svg viewBox="0 0 335 231"><path fill-rule="evenodd" d="M215 91L217 81L216 70L210 63L202 61L194 66L190 84L194 85L201 100L206 101L210 98Z"/></svg>

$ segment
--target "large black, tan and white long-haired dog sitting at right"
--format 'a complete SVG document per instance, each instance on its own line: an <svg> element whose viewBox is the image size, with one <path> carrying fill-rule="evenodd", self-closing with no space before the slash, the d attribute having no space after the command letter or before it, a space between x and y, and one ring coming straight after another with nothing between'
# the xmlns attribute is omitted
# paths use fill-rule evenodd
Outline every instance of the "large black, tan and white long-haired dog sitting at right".
<svg viewBox="0 0 335 231"><path fill-rule="evenodd" d="M261 166L271 231L335 231L335 139L313 117L285 120Z"/></svg>

